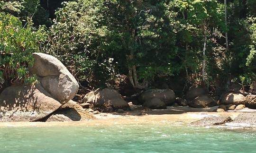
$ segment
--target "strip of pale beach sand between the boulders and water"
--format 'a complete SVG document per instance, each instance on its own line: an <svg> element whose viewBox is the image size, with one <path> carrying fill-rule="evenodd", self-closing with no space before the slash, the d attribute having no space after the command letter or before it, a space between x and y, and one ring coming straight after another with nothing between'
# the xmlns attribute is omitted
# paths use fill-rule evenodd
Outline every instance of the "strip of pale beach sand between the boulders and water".
<svg viewBox="0 0 256 153"><path fill-rule="evenodd" d="M0 127L50 127L50 126L110 126L115 124L188 124L206 116L229 115L232 119L244 111L212 112L215 107L194 109L189 107L168 107L167 110L133 110L124 113L100 113L96 119L72 122L2 122ZM246 110L248 111L248 110ZM249 110L251 112L253 110Z"/></svg>

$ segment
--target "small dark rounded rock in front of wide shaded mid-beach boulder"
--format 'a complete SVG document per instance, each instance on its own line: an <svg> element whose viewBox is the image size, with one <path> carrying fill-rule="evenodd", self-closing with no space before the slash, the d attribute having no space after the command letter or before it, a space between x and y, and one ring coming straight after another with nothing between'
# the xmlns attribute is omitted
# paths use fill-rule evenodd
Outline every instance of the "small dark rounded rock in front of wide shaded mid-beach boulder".
<svg viewBox="0 0 256 153"><path fill-rule="evenodd" d="M148 99L143 103L143 106L150 109L166 109L165 102L161 101L159 98Z"/></svg>

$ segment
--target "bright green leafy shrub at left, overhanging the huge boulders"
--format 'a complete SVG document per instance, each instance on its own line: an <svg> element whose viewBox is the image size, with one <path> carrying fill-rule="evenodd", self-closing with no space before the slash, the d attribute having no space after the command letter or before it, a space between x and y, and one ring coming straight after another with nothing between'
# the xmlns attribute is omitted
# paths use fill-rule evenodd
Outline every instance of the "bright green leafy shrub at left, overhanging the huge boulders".
<svg viewBox="0 0 256 153"><path fill-rule="evenodd" d="M31 83L28 66L33 64L33 52L45 39L44 29L23 28L18 17L0 12L0 87L21 82Z"/></svg>

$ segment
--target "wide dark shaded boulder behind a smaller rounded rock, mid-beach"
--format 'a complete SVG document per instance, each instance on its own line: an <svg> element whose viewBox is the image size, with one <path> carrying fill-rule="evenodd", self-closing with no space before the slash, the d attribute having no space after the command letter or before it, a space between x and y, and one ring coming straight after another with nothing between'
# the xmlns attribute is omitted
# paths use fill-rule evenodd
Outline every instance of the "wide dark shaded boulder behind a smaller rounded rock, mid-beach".
<svg viewBox="0 0 256 153"><path fill-rule="evenodd" d="M150 89L140 95L140 99L144 102L153 98L160 99L166 105L172 105L175 102L175 94L171 89Z"/></svg>

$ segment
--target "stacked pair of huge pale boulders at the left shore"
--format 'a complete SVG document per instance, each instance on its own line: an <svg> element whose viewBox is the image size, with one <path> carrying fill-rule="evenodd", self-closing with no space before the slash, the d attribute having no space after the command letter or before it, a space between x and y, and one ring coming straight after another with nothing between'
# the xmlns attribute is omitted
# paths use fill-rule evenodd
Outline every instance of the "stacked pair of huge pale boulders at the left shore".
<svg viewBox="0 0 256 153"><path fill-rule="evenodd" d="M78 91L78 82L55 57L44 53L34 53L33 56L34 65L29 68L29 75L37 76L37 83L12 85L0 93L0 121L93 118L90 114L78 113L76 107L70 109L74 112L63 114L64 105L70 103ZM74 119L74 114L79 119Z"/></svg>

